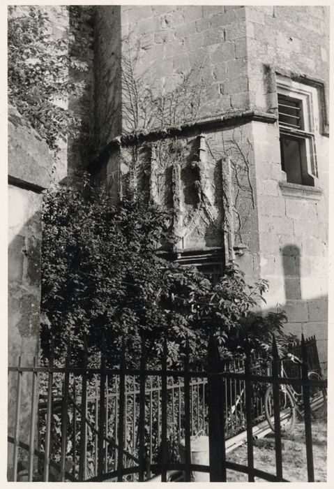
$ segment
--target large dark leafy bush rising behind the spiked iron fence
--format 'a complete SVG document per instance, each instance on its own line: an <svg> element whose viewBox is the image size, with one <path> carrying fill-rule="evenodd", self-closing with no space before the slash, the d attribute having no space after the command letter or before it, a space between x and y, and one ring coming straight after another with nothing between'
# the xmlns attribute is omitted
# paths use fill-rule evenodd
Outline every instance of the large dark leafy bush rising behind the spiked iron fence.
<svg viewBox="0 0 334 489"><path fill-rule="evenodd" d="M196 268L157 252L173 237L169 214L155 205L130 197L114 205L86 179L82 191L54 187L47 192L43 225L46 356L50 334L58 358L68 340L80 358L85 336L92 354L105 345L111 364L119 360L122 336L133 363L143 335L151 361L160 356L162 337L167 337L170 363L182 358L186 337L192 360L199 363L210 333L225 354L242 352L247 343L266 352L273 333L285 340L283 312L255 314L265 281L252 288L240 270L227 267L213 285Z"/></svg>

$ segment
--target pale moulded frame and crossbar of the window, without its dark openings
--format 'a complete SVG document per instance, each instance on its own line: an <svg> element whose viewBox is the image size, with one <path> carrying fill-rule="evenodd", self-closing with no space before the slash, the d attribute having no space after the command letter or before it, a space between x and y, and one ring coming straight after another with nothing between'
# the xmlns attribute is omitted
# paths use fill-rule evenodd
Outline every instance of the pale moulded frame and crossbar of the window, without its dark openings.
<svg viewBox="0 0 334 489"><path fill-rule="evenodd" d="M303 125L296 129L284 125L278 120L280 135L301 141L301 164L303 186L315 187L318 177L316 144L320 134L319 90L314 85L292 80L276 74L277 94L298 101L301 108Z"/></svg>

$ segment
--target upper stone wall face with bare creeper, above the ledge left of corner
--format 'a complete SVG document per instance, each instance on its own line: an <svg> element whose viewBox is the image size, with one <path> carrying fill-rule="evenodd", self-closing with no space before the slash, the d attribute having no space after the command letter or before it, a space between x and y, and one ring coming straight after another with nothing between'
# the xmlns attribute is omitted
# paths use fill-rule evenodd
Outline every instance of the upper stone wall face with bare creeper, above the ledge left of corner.
<svg viewBox="0 0 334 489"><path fill-rule="evenodd" d="M104 6L96 19L102 146L249 105L244 7Z"/></svg>

